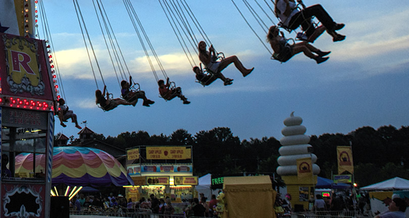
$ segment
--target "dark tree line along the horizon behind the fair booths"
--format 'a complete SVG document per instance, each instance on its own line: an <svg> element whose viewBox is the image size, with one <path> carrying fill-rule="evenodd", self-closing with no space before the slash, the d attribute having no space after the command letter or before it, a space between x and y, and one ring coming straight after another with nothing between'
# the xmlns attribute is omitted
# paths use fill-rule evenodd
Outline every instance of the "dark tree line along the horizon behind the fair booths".
<svg viewBox="0 0 409 218"><path fill-rule="evenodd" d="M337 174L336 147L351 145L355 183L360 187L393 177L409 179L409 126L399 129L392 125L378 129L364 126L346 135L323 134L310 138L309 144L321 168L320 177L331 178ZM70 139L73 146L79 143L79 139ZM193 173L199 177L207 173L243 172L272 175L278 166L281 147L274 137L240 141L228 127L201 130L194 136L185 129L178 129L169 136L150 136L139 130L117 137L97 135L96 139L123 149L140 145L192 145Z"/></svg>

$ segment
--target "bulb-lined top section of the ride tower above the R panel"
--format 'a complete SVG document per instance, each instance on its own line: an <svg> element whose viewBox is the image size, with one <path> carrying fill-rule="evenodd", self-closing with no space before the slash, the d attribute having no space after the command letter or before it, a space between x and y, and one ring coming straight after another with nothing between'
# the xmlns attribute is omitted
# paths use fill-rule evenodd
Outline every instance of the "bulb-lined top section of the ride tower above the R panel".
<svg viewBox="0 0 409 218"><path fill-rule="evenodd" d="M27 22L26 22L27 20ZM25 36L34 35L35 5L34 0L1 0L0 32Z"/></svg>

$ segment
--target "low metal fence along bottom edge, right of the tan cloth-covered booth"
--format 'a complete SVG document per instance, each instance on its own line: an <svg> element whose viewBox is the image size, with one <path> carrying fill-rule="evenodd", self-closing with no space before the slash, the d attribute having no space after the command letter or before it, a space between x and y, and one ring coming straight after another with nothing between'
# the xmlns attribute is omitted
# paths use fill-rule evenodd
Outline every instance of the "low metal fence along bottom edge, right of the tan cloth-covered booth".
<svg viewBox="0 0 409 218"><path fill-rule="evenodd" d="M356 217L356 218L367 218L367 217L374 217L371 211L348 211L348 210L342 210L342 211L308 211L308 212L296 212L296 213L291 213L291 217L297 217L297 218L321 218L321 217L336 217L336 218L350 218L350 217Z"/></svg>

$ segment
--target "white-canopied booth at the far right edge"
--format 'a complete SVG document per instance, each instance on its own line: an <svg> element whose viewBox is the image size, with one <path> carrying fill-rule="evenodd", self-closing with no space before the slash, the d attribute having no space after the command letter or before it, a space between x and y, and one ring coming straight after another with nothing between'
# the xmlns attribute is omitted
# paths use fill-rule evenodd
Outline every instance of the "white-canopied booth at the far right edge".
<svg viewBox="0 0 409 218"><path fill-rule="evenodd" d="M388 210L393 195L409 202L409 180L399 177L362 187L360 190L369 191L372 214ZM408 209L406 209L405 215L409 217Z"/></svg>

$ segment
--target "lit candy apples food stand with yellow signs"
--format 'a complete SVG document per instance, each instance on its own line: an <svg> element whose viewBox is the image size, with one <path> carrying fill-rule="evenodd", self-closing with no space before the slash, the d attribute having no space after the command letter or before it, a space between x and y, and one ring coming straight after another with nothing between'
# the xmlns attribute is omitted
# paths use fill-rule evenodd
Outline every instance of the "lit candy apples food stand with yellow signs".
<svg viewBox="0 0 409 218"><path fill-rule="evenodd" d="M127 149L127 172L134 186L126 187L126 198L139 201L155 194L169 197L172 203L185 202L197 197L194 186L191 146L138 146Z"/></svg>

